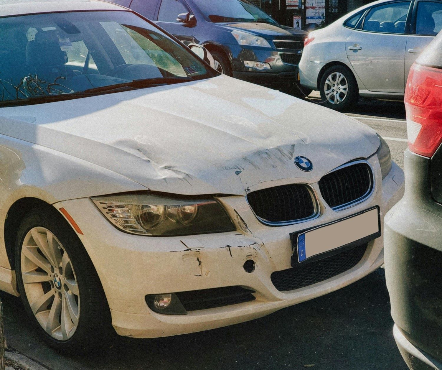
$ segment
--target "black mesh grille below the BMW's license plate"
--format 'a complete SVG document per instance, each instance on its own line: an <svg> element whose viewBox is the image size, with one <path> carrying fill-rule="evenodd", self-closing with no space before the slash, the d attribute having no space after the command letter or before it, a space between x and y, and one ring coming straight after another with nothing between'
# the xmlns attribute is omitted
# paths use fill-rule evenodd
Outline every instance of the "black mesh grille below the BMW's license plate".
<svg viewBox="0 0 442 370"><path fill-rule="evenodd" d="M366 250L367 244L362 244L316 262L275 271L271 275L271 281L280 292L303 288L350 270L361 261Z"/></svg>

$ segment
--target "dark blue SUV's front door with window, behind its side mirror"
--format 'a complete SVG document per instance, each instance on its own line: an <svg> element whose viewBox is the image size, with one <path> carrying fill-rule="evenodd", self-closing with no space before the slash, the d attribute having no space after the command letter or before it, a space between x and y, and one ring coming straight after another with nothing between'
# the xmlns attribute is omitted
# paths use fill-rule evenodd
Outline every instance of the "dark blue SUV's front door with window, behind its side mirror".
<svg viewBox="0 0 442 370"><path fill-rule="evenodd" d="M162 0L156 23L188 45L193 42L193 32L196 23L178 22L176 20L178 15L183 13L192 13L183 1Z"/></svg>

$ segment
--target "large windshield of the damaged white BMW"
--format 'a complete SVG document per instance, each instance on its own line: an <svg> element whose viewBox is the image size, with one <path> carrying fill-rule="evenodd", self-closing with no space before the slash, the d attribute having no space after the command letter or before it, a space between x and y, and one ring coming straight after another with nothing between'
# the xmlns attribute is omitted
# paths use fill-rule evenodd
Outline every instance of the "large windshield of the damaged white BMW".
<svg viewBox="0 0 442 370"><path fill-rule="evenodd" d="M180 43L129 11L0 18L0 104L73 98L216 76ZM140 84L146 80L146 84ZM71 96L72 95L72 96ZM21 101L20 103L24 103Z"/></svg>

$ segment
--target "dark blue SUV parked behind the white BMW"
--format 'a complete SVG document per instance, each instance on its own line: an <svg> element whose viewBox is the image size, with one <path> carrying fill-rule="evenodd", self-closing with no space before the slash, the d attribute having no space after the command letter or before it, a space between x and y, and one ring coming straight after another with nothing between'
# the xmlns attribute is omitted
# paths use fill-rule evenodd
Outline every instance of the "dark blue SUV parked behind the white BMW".
<svg viewBox="0 0 442 370"><path fill-rule="evenodd" d="M246 0L111 0L137 11L184 43L205 46L219 71L296 96L305 31L282 26Z"/></svg>

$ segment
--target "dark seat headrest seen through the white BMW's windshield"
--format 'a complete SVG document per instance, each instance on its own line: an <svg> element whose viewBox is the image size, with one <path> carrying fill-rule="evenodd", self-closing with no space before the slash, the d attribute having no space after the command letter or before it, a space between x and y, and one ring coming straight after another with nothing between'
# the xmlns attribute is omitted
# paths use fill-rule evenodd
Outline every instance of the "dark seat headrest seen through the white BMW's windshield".
<svg viewBox="0 0 442 370"><path fill-rule="evenodd" d="M26 46L26 64L29 67L63 65L66 52L61 50L57 30L39 31Z"/></svg>

